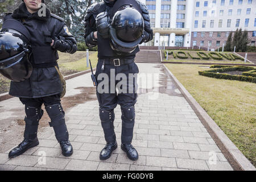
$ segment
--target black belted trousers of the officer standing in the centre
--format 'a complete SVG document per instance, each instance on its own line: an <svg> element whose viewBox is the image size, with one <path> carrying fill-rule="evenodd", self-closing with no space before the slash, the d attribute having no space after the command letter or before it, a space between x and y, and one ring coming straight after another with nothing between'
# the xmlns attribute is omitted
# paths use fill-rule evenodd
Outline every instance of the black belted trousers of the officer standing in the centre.
<svg viewBox="0 0 256 182"><path fill-rule="evenodd" d="M129 73L139 72L137 65L133 63L123 64L120 66L105 64L104 70L102 70L102 60L100 59L97 64L96 69L96 77L98 80L97 86L97 98L100 105L100 119L101 125L104 130L105 139L107 143L115 141L115 133L114 133L114 108L119 104L121 106L122 111L122 135L121 140L122 143L131 143L133 139L133 128L134 128L134 120L135 120L135 108L134 105L137 102L137 78L130 78ZM118 73L123 73L127 76L126 85L121 86L121 89L125 89L126 92L119 92L115 89L111 89L113 85L114 88L118 86L119 81L115 81L114 77L110 77L110 70L113 69L115 76ZM108 75L109 80L99 80L101 78L100 73L106 73ZM112 80L112 83L111 81ZM122 79L121 79L122 80ZM104 81L106 85L102 86L101 82ZM106 87L105 87L106 86ZM106 89L108 88L108 93L102 93L100 88ZM118 86L119 87L119 86ZM100 92L99 92L100 90ZM107 89L106 89L107 90ZM112 92L111 92L112 91Z"/></svg>

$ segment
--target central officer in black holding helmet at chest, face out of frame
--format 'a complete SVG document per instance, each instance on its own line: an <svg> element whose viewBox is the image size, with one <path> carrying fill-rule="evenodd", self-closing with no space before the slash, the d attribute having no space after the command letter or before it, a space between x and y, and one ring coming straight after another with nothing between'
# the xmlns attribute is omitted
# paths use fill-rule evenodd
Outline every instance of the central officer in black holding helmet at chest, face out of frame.
<svg viewBox="0 0 256 182"><path fill-rule="evenodd" d="M139 52L138 44L152 40L150 18L145 5L135 0L117 0L95 3L85 15L85 43L89 47L98 46L98 64L96 77L98 80L97 98L100 105L100 119L104 130L106 146L100 153L100 159L110 158L117 148L114 133L114 108L119 104L122 111L121 149L131 160L138 159L138 152L132 146L133 128L135 121L135 103L137 102L137 82L134 78L127 79L127 89L132 92L115 91L118 82L111 77L111 69L117 75L139 72L134 58ZM101 81L99 76L105 73L110 80L114 79L114 89L109 92L99 92ZM111 81L103 87L111 87ZM104 80L105 81L105 80ZM127 90L126 89L126 90Z"/></svg>

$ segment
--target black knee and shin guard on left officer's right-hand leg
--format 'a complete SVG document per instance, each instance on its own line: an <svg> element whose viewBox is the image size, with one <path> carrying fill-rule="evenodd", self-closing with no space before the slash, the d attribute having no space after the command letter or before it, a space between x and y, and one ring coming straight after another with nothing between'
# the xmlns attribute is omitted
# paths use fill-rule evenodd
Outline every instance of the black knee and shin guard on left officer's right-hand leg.
<svg viewBox="0 0 256 182"><path fill-rule="evenodd" d="M51 118L49 126L53 127L56 139L61 142L68 140L68 130L65 124L65 113L61 104L46 106L47 114Z"/></svg>

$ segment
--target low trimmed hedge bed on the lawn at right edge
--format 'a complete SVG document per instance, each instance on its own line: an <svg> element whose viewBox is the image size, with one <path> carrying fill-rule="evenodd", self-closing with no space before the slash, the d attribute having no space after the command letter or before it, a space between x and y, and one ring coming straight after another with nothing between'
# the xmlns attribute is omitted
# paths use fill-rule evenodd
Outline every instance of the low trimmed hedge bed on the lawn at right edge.
<svg viewBox="0 0 256 182"><path fill-rule="evenodd" d="M253 76L245 76L245 75L229 75L227 73L222 72L228 72L228 71L242 71L242 72L249 72L254 71L256 72L256 69L253 67L229 67L229 66L222 66L222 65L213 65L212 67L219 67L217 69L211 69L207 71L199 71L199 75L212 77L212 78L218 78L218 79L226 79L226 80L238 80L238 81L247 81L247 82L253 82L256 83L256 77ZM222 68L220 68L222 67ZM254 73L253 73L254 74ZM256 75L256 74L255 74Z"/></svg>

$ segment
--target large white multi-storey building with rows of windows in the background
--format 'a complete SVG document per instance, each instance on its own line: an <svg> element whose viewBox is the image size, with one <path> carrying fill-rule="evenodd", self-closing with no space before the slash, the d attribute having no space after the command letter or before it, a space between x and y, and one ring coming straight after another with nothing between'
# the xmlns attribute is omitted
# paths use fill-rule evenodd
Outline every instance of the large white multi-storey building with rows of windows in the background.
<svg viewBox="0 0 256 182"><path fill-rule="evenodd" d="M140 0L146 4L154 39L146 46L216 49L229 32L249 31L250 45L256 41L256 0Z"/></svg>

